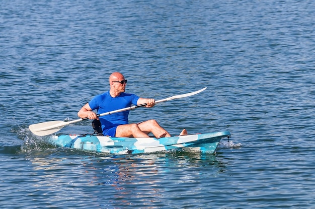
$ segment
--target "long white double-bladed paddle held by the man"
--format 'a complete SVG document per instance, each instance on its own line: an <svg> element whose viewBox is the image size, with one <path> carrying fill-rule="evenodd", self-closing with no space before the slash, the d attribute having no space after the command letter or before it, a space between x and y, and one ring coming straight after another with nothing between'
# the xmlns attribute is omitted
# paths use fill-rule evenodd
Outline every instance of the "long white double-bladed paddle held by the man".
<svg viewBox="0 0 315 209"><path fill-rule="evenodd" d="M198 91L191 92L191 93L175 95L175 96L172 96L172 97L169 97L169 98L166 98L166 99L157 100L157 101L155 101L155 103L166 102L166 101L170 101L170 100L173 100L173 99L180 99L180 98L184 98L184 97L189 97L189 96L192 96L192 95L195 95L195 94L198 94L198 93L204 91L206 88L207 87L205 87L203 89L200 89ZM131 106L131 107L126 107L126 108L122 108L122 109L119 109L119 110L105 112L105 113L99 114L97 116L101 117L101 116L104 116L104 115L111 115L111 114L118 113L118 112L123 112L123 111L127 111L127 110L133 110L133 109L135 109L137 107L142 107L142 106L145 106L145 105L146 105L146 103L145 104ZM43 122L43 123L36 123L36 124L30 125L29 129L35 135L46 136L46 135L53 134L53 133L59 131L61 128L63 128L66 125L69 125L71 123L80 122L80 121L87 120L87 119L89 119L89 118L88 117L87 118L80 118L80 119L72 120L72 121L68 121L68 122L57 120L57 121L48 121L48 122Z"/></svg>

